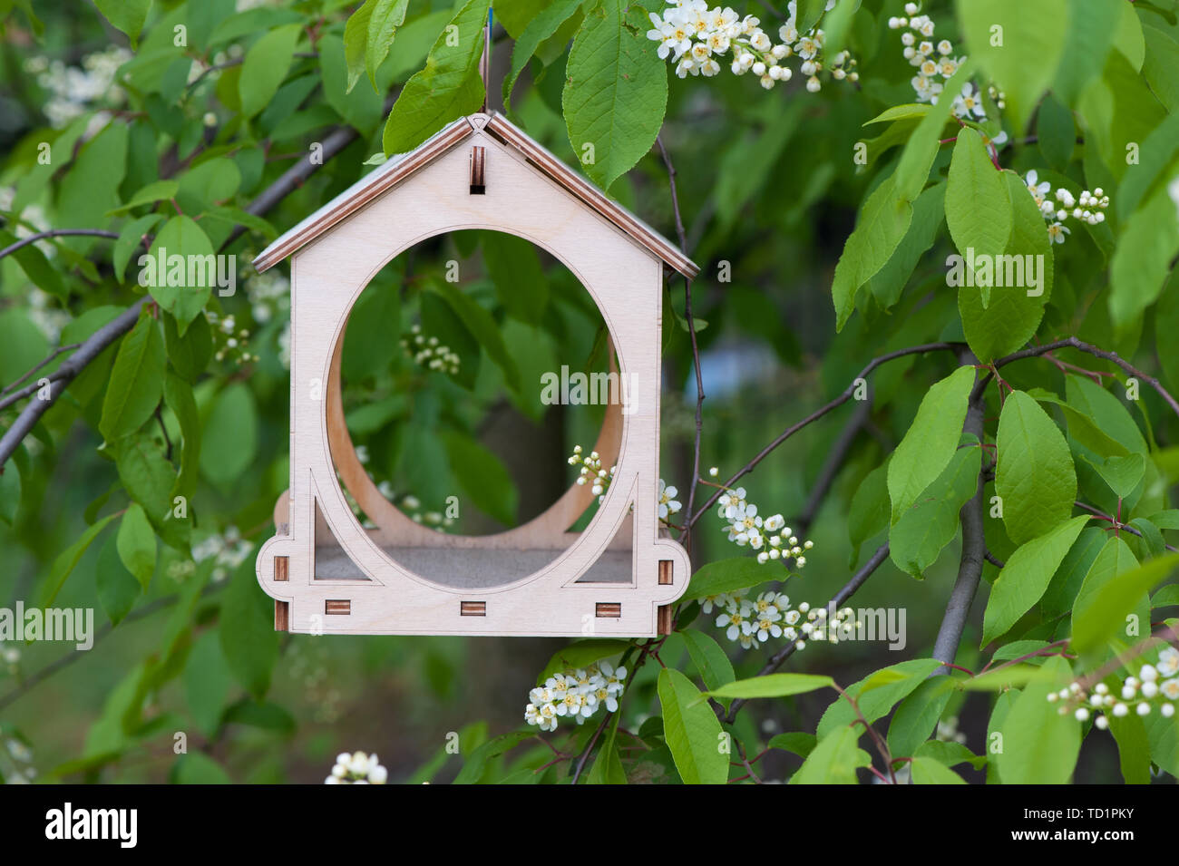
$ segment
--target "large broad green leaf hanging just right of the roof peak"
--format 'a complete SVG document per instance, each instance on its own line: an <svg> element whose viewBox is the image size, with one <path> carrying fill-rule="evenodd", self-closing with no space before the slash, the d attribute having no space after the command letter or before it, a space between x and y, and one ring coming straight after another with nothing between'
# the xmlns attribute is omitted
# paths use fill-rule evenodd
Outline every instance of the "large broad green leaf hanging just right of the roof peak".
<svg viewBox="0 0 1179 866"><path fill-rule="evenodd" d="M578 159L604 190L641 159L667 107L667 70L641 8L599 0L573 40L561 108Z"/></svg>

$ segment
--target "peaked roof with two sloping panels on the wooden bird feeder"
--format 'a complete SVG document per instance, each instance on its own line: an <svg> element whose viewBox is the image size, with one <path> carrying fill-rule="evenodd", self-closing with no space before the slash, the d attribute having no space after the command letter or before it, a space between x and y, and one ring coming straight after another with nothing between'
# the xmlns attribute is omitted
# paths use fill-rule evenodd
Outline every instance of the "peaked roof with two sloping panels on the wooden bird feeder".
<svg viewBox="0 0 1179 866"><path fill-rule="evenodd" d="M696 263L680 252L672 242L626 207L607 198L601 190L498 112L461 117L443 126L413 151L390 157L380 167L271 242L253 259L255 269L261 273L278 264L479 131L511 145L540 173L647 247L673 270L689 279L699 273L700 269Z"/></svg>

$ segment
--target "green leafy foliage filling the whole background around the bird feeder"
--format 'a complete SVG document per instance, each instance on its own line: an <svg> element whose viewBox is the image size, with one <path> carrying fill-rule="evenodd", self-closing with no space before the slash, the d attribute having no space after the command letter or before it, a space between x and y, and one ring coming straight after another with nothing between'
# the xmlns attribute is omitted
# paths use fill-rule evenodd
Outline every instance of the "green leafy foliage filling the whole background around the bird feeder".
<svg viewBox="0 0 1179 866"><path fill-rule="evenodd" d="M13 394L150 297L0 475L0 599L91 608L99 621L87 653L0 647L6 779L320 781L338 752L363 748L394 781L836 782L893 769L914 782L1174 781L1179 720L1161 714L1162 699L1108 731L1047 700L1079 677L1120 692L1121 672L1141 663L1127 654L1150 623L1173 626L1179 604L1166 554L1179 530L1179 418L1166 396L1179 389L1174 2L1094 0L1085 14L1065 0L930 4L933 39L970 58L936 105L915 101L916 70L888 25L913 16L900 0L798 0L798 24L828 27L828 47L856 60L857 80L838 81L828 61L817 93L802 74L763 90L757 72L730 73L731 57L714 77L677 77L678 58L668 66L645 34L646 13L663 12L654 2L496 5L492 79L505 81L513 120L668 236L683 218L703 267L692 285L707 392L699 464L727 477L856 391L740 481L751 501L772 503L763 517L806 530L805 570L757 566L714 508L693 534L696 567L710 569L702 582L776 580L796 606L822 606L889 542L854 603L907 612L903 646L811 642L790 661L822 674L811 679L756 676L784 641L723 648L703 599L680 607L665 641L625 648L275 634L253 554L290 469L289 282L285 265L257 275L250 262L386 154L479 110L488 7L95 5L101 14L48 0L0 7L0 246L48 230L110 233L47 237L0 258L0 427L37 399ZM738 12L762 15L772 37L788 13L770 6ZM949 98L968 80L982 114ZM341 127L355 138L284 184ZM1038 211L1040 183L1069 211L1063 244L1049 236L1056 217ZM276 186L286 194L272 207L248 210ZM1107 196L1093 205L1101 220L1074 217L1050 196L1061 189ZM236 291L143 285L140 256L162 247L232 253ZM961 286L947 279L955 252L970 262ZM1042 283L973 284L974 253L1029 256ZM460 232L391 262L356 310L343 358L349 430L399 507L444 530L495 531L573 481L564 460L592 444L600 411L545 406L534 385L539 372L600 371L608 358L601 313L559 262ZM678 279L664 325L661 474L686 504L696 382ZM1099 353L1042 349L1069 337ZM856 383L874 358L924 344L951 345ZM1007 357L1026 346L1026 359ZM981 561L984 543L989 554L982 591L959 669L930 679L936 623L955 575L971 568L960 561L960 509L980 471L984 542L968 553ZM712 493L700 485L694 504ZM461 517L447 524L456 494ZM666 669L650 663L656 653ZM541 734L548 746L528 735L538 672L618 656L630 679L620 712L599 713L608 723L565 720ZM704 690L718 693L722 716L757 700L723 722ZM851 701L887 729L891 758L911 761L887 766L852 725Z"/></svg>

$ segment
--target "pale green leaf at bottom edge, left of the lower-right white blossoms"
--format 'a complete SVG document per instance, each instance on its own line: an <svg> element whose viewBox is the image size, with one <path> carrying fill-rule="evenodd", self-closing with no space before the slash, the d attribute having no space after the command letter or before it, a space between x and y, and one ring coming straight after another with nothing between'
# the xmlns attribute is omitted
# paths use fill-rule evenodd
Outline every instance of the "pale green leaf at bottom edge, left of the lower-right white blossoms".
<svg viewBox="0 0 1179 866"><path fill-rule="evenodd" d="M1072 681L1072 668L1061 656L1048 659L1043 668L1050 679L1028 683L995 728L1002 734L1002 751L995 752L993 763L1005 785L1063 785L1073 775L1081 723L1048 702L1049 692ZM988 734L988 743L993 736Z"/></svg>

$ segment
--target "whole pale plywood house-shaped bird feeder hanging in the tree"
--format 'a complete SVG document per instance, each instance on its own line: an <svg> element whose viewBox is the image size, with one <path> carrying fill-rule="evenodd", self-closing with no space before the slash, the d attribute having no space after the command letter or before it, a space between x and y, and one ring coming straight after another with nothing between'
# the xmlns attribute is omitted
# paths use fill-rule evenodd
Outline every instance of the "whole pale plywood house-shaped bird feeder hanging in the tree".
<svg viewBox="0 0 1179 866"><path fill-rule="evenodd" d="M498 535L422 527L381 495L344 425L340 359L353 304L393 258L466 229L508 232L547 250L581 282L610 330L631 392L625 406L612 401L606 409L594 449L618 470L581 533L568 530L594 496L577 484ZM275 240L255 266L265 271L288 256L290 489L257 560L276 629L626 637L670 630L670 606L687 588L690 567L657 515L661 286L665 266L694 277L691 260L494 113L456 120L388 160ZM341 482L375 528L361 527Z"/></svg>

